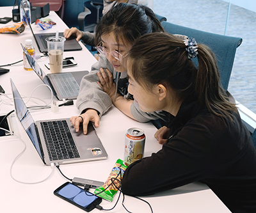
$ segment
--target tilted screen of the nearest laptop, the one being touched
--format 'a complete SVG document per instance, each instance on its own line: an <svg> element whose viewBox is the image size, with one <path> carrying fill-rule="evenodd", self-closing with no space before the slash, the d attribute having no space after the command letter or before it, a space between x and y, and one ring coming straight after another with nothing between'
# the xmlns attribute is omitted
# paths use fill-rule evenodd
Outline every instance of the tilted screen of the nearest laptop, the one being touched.
<svg viewBox="0 0 256 213"><path fill-rule="evenodd" d="M38 136L36 134L35 122L31 114L29 113L28 108L26 107L26 104L22 100L22 97L20 96L20 93L17 90L15 84L13 83L12 79L10 80L12 85L13 102L14 102L15 112L17 114L17 117L19 118L22 127L26 130L29 138L31 139L33 145L35 146L36 151L38 152L40 157L43 159L42 152L40 149L40 143L38 141Z"/></svg>

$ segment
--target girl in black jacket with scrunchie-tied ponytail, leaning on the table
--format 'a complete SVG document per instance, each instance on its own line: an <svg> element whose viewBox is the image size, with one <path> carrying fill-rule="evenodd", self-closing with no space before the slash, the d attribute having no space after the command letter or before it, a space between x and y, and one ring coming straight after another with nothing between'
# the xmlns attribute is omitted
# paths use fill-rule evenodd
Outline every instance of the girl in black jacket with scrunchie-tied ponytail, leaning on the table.
<svg viewBox="0 0 256 213"><path fill-rule="evenodd" d="M122 191L143 196L200 181L232 212L256 212L256 150L212 51L196 38L151 33L126 57L128 91L140 109L170 119L155 134L162 149L128 166Z"/></svg>

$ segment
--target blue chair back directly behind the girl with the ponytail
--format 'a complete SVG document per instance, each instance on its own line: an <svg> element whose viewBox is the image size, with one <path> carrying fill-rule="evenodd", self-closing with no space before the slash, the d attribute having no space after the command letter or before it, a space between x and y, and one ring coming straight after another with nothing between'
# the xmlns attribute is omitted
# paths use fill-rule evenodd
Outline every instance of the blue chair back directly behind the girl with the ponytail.
<svg viewBox="0 0 256 213"><path fill-rule="evenodd" d="M195 38L197 43L204 43L216 55L220 70L223 89L227 91L236 49L241 45L242 38L207 33L197 29L186 28L170 22L161 22L164 30L172 34L186 35Z"/></svg>

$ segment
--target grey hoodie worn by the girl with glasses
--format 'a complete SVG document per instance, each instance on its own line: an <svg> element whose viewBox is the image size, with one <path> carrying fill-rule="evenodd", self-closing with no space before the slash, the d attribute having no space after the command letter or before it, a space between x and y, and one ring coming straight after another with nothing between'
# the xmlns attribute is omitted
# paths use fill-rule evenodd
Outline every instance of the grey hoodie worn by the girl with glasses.
<svg viewBox="0 0 256 213"><path fill-rule="evenodd" d="M102 116L102 114L106 113L106 111L108 111L108 109L112 106L109 95L102 91L100 86L97 84L97 81L99 81L97 72L99 72L100 68L104 68L104 70L108 68L108 70L113 74L117 92L122 94L124 99L132 99L132 95L127 91L127 72L116 72L107 58L99 57L99 61L92 65L92 71L88 75L84 75L81 81L79 95L76 102L80 113L83 113L85 109L90 108L97 110L99 112L99 116ZM141 111L140 107L135 101L131 105L131 113L132 116L138 120L138 122L148 122L158 118L167 120L162 111L157 111L154 113L145 113Z"/></svg>

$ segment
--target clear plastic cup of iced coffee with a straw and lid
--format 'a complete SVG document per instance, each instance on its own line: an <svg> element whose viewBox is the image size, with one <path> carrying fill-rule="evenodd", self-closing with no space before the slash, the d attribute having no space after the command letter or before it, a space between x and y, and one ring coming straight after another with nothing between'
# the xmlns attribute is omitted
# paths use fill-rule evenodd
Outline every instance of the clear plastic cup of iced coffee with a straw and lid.
<svg viewBox="0 0 256 213"><path fill-rule="evenodd" d="M62 71L65 40L66 38L58 36L58 33L56 33L56 36L46 38L51 73Z"/></svg>

